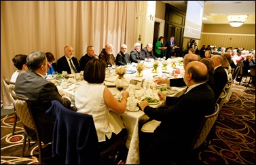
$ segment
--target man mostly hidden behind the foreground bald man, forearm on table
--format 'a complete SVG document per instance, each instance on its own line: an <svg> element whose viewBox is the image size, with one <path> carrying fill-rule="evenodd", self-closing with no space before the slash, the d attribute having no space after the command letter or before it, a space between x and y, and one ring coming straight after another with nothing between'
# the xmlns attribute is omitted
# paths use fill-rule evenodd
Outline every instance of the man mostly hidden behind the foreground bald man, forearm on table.
<svg viewBox="0 0 256 165"><path fill-rule="evenodd" d="M196 54L186 54L183 59L183 67L187 66L187 64L191 61L199 61L200 58ZM170 86L186 86L185 82L183 81L183 78L177 78L177 79L163 79L160 77L159 79L156 79L157 84L170 84Z"/></svg>

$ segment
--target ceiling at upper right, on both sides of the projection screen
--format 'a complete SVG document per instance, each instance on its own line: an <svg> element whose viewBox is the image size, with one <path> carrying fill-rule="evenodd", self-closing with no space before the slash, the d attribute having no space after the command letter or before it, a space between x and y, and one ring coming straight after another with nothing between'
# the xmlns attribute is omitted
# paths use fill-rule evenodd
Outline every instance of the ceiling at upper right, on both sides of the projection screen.
<svg viewBox="0 0 256 165"><path fill-rule="evenodd" d="M187 1L162 1L186 12ZM249 15L244 24L255 24L255 1L205 1L203 24L228 24L227 15Z"/></svg>

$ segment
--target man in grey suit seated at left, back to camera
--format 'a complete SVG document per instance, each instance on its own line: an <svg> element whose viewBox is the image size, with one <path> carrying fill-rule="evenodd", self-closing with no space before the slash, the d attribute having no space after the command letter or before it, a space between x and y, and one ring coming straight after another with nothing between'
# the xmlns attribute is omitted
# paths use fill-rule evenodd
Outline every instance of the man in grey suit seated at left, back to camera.
<svg viewBox="0 0 256 165"><path fill-rule="evenodd" d="M58 100L62 105L70 109L71 100L66 94L62 96L58 88L44 75L50 64L43 52L33 52L26 58L28 71L22 71L16 79L14 91L18 96L29 98L34 120L44 144L52 142L52 133L55 117L45 114L51 107L52 100ZM35 132L29 132L33 136Z"/></svg>

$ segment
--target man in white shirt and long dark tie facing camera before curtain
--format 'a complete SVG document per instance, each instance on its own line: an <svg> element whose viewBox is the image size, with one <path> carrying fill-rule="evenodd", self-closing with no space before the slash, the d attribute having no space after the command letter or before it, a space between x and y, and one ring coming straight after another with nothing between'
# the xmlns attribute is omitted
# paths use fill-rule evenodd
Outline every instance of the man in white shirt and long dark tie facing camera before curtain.
<svg viewBox="0 0 256 165"><path fill-rule="evenodd" d="M71 45L67 45L64 48L65 55L57 60L58 73L67 71L67 73L79 73L80 66L77 58L73 56L73 48Z"/></svg>

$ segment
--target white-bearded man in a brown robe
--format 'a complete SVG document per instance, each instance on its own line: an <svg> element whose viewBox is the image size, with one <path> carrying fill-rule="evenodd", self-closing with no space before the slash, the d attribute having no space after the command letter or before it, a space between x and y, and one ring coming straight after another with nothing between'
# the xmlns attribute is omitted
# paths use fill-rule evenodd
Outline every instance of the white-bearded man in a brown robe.
<svg viewBox="0 0 256 165"><path fill-rule="evenodd" d="M107 44L105 46L105 50L100 53L98 58L103 59L105 62L107 62L107 65L115 65L115 56L112 54L113 51L113 45L111 43Z"/></svg>

